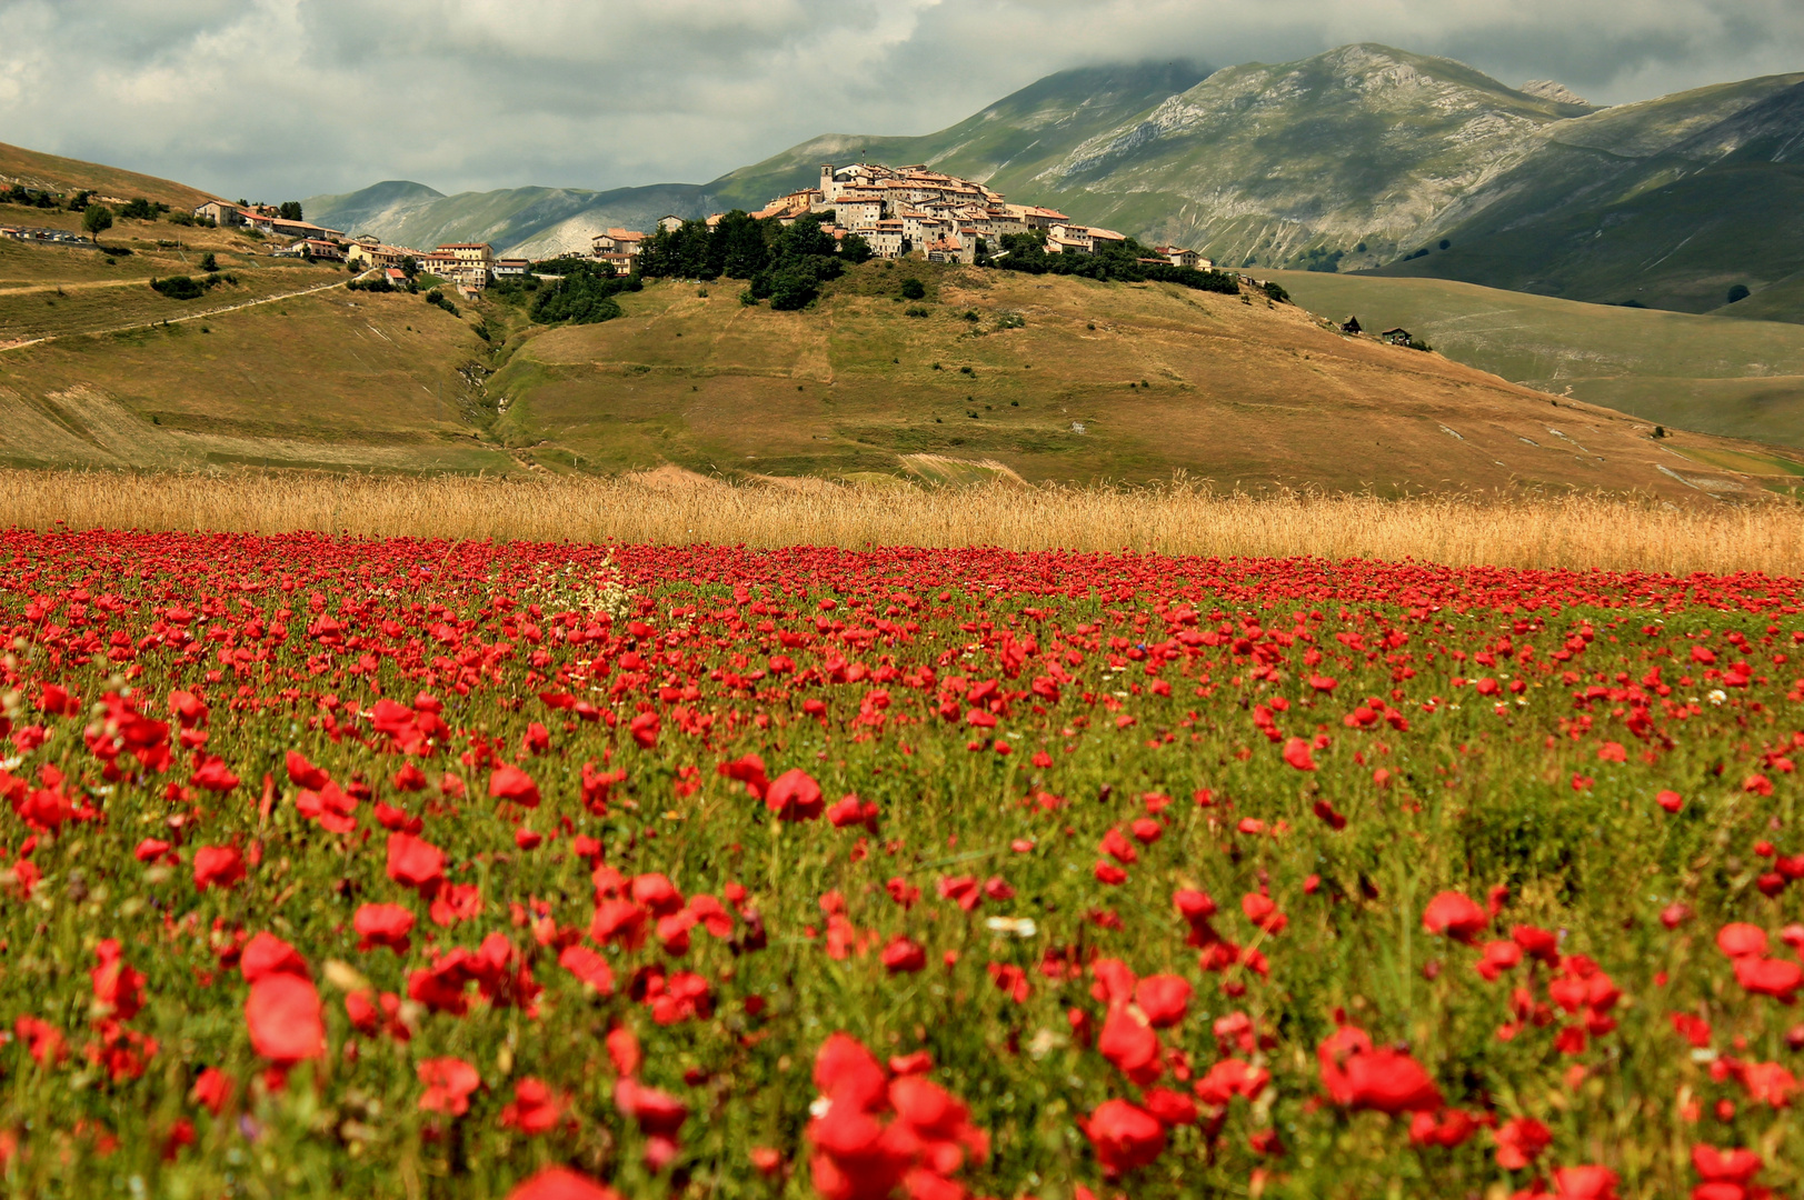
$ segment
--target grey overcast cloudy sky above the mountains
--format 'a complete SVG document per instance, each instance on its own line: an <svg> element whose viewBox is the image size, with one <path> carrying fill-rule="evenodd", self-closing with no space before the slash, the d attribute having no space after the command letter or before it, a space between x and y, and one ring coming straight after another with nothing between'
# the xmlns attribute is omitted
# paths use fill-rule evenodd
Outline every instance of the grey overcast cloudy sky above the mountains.
<svg viewBox="0 0 1804 1200"><path fill-rule="evenodd" d="M0 0L0 141L265 200L705 182L1066 67L1346 42L1622 103L1804 70L1804 0Z"/></svg>

